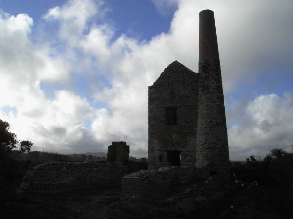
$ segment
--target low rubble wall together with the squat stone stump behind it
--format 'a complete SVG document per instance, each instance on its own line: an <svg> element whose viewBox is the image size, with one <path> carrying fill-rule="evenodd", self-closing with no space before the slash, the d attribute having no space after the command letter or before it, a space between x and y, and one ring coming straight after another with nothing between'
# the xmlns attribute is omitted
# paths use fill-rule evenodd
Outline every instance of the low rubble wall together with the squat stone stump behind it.
<svg viewBox="0 0 293 219"><path fill-rule="evenodd" d="M121 182L130 172L147 169L146 162L129 162L129 145L112 142L107 163L99 161L49 162L30 168L22 178L19 191L66 191L95 188Z"/></svg>

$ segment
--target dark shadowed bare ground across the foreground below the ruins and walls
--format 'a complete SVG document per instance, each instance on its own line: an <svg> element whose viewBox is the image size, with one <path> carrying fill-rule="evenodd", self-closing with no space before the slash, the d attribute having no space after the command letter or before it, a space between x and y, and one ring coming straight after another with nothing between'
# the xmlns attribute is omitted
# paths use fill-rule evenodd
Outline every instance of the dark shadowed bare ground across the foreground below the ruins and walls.
<svg viewBox="0 0 293 219"><path fill-rule="evenodd" d="M122 197L120 184L59 193L1 190L1 219L292 219L283 215L278 188L230 183L213 196L180 198L188 186L149 184Z"/></svg>

